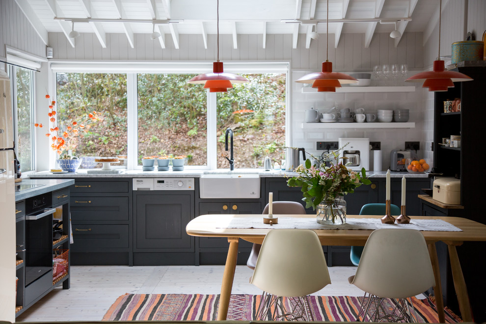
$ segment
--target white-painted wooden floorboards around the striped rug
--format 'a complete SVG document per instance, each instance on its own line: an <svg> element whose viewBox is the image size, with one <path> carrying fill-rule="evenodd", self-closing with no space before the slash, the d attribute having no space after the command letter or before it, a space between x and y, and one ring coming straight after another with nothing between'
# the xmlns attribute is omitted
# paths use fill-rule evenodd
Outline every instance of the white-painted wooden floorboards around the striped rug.
<svg viewBox="0 0 486 324"><path fill-rule="evenodd" d="M56 288L17 322L100 321L117 297L130 294L219 294L224 266L73 266L71 288ZM356 267L330 267L332 284L315 295L363 296L348 283ZM248 283L252 270L237 266L233 294L258 295Z"/></svg>

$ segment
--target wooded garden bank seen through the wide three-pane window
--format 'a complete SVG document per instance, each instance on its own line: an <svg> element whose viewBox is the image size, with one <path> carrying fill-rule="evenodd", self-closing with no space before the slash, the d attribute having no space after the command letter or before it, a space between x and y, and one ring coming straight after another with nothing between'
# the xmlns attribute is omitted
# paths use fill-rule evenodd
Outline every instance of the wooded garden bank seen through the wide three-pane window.
<svg viewBox="0 0 486 324"><path fill-rule="evenodd" d="M234 133L236 168L261 168L285 159L286 74L246 74L250 82L234 84L217 93L216 123L208 123L208 93L202 85L188 84L190 74L57 73L59 128L95 110L83 132L70 138L67 149L79 156L127 155L127 76L136 80L135 165L144 157L185 156L186 165L208 165L208 125L216 125L217 168L228 168L224 151L226 128ZM130 95L128 95L130 97ZM129 116L130 115L130 116ZM214 134L214 132L213 132ZM213 150L215 152L215 150ZM85 163L83 163L85 164ZM89 167L95 167L90 165ZM98 165L96 167L101 167Z"/></svg>

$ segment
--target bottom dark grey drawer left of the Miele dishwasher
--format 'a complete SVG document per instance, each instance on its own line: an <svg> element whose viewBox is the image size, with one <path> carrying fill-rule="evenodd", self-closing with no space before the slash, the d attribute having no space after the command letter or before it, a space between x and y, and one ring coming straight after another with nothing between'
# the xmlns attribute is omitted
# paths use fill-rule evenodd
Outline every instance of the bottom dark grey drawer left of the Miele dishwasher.
<svg viewBox="0 0 486 324"><path fill-rule="evenodd" d="M80 225L73 221L71 252L100 252L129 247L128 225Z"/></svg>

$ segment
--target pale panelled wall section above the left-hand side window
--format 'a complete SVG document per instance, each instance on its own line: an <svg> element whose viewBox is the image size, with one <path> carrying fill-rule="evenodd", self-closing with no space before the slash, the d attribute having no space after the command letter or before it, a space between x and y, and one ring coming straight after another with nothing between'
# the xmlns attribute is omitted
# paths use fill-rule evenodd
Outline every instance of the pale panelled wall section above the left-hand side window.
<svg viewBox="0 0 486 324"><path fill-rule="evenodd" d="M46 57L46 45L14 0L0 0L0 57L6 56L4 45Z"/></svg>

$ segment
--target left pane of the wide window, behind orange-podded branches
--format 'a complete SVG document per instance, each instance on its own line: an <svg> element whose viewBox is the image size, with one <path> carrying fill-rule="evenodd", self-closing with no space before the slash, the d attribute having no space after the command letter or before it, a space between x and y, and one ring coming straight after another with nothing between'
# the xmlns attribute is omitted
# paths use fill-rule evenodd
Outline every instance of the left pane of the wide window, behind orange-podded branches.
<svg viewBox="0 0 486 324"><path fill-rule="evenodd" d="M57 73L56 98L58 134L68 133L64 153L80 157L127 155L126 74ZM95 120L90 117L93 111L100 113L95 114Z"/></svg>

